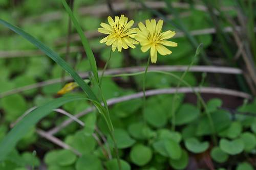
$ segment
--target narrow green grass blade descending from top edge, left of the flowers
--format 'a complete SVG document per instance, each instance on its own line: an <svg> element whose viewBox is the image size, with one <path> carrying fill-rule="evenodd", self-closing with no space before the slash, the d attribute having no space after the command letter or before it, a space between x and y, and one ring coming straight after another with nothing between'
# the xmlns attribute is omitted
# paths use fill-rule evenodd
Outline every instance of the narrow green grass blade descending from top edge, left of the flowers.
<svg viewBox="0 0 256 170"><path fill-rule="evenodd" d="M76 20L75 16L73 15L73 12L70 9L69 5L67 4L66 0L62 0L62 4L65 7L66 11L68 12L68 14L69 14L69 16L70 16L70 18L71 18L71 20L72 20L72 22L73 22L73 24L76 28L77 33L79 34L79 36L81 38L82 45L84 47L84 50L86 51L86 55L89 59L91 69L93 71L93 75L96 79L96 82L99 85L99 75L98 75L97 65L96 65L96 61L95 61L95 58L94 58L94 55L93 55L92 48L90 47L89 41L86 38L86 36L84 36L82 28L80 27L78 21Z"/></svg>

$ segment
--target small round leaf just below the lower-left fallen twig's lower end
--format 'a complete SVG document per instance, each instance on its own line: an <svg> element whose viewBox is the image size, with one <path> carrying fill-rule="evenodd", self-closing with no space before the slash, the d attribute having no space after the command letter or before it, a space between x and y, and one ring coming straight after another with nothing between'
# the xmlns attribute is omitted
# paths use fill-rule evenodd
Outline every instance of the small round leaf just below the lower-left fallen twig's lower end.
<svg viewBox="0 0 256 170"><path fill-rule="evenodd" d="M72 165L76 161L76 155L70 150L61 150L57 155L57 163L60 166Z"/></svg>

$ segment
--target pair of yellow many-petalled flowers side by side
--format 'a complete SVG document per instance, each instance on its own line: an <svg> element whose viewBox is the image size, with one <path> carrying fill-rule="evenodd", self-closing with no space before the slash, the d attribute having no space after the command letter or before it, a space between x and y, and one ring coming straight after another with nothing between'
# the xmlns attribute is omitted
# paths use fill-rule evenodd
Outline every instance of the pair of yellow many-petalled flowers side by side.
<svg viewBox="0 0 256 170"><path fill-rule="evenodd" d="M108 34L105 38L100 40L100 43L106 45L112 45L112 51L117 48L119 52L122 48L127 49L129 46L135 48L134 44L141 45L141 51L143 53L150 50L151 62L157 62L157 53L165 56L172 52L165 46L177 46L177 43L167 41L175 35L174 31L162 32L163 20L159 20L156 23L155 19L146 20L146 25L142 22L138 24L139 28L131 28L134 24L134 20L128 22L128 18L124 15L115 17L115 20L111 16L108 17L109 24L101 23L101 27L98 32ZM134 40L135 38L136 40ZM164 46L165 45L165 46Z"/></svg>

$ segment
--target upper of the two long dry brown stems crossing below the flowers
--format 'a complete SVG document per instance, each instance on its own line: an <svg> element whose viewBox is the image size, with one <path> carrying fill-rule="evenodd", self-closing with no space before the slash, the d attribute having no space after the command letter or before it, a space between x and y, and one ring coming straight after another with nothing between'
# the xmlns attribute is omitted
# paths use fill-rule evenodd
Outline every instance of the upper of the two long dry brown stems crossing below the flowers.
<svg viewBox="0 0 256 170"><path fill-rule="evenodd" d="M159 65L159 66L150 66L148 70L158 70L158 71L184 71L186 70L187 66L165 66L165 65ZM107 75L118 75L118 74L124 74L124 73L133 73L138 71L144 71L144 67L136 66L136 67L125 67L125 68L115 68L115 69L109 69L105 70L105 76ZM190 72L214 72L214 73L222 73L222 74L235 74L239 75L242 74L242 70L239 68L233 68L233 67L219 67L219 66L192 66L190 68ZM101 75L101 71L98 71L99 75ZM79 74L81 78L86 79L89 77L89 72L84 72ZM72 81L73 79L71 77L65 77L66 81ZM35 84L18 87L9 91L5 91L0 93L0 99L4 98L5 96L16 94L19 92L27 91L34 88L44 87L51 84L60 83L61 79L51 79L44 82L38 82Z"/></svg>

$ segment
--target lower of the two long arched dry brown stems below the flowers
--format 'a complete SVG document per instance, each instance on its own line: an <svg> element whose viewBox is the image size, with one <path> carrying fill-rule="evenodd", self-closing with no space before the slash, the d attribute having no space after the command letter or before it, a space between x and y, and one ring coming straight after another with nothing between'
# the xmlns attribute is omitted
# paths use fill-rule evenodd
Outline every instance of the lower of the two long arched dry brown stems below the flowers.
<svg viewBox="0 0 256 170"><path fill-rule="evenodd" d="M230 89L224 89L224 88L216 88L216 87L195 87L193 88L195 91L198 91L200 93L211 93L211 94L223 94L223 95L232 95L232 96L237 96L240 98L245 98L245 99L251 99L251 96L247 93L236 91L236 90L230 90ZM188 88L188 87L181 87L178 89L178 93L191 93L193 92L193 89ZM147 90L146 91L146 96L152 96L152 95L159 95L159 94L173 94L176 92L176 88L165 88L165 89L156 89L156 90ZM125 101L130 101L133 99L138 99L143 97L143 92L138 92L135 94L130 94L130 95L125 95L121 96L119 98L112 98L107 100L108 106L112 106L117 103L125 102ZM94 107L90 107L76 115L75 117L79 118L83 115L86 115L90 112L95 110ZM68 126L70 123L72 123L72 119L67 119L64 122L62 122L59 126L51 129L48 131L49 134L53 135L57 132L59 132L61 129L65 128Z"/></svg>

